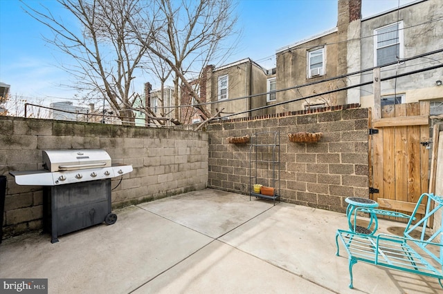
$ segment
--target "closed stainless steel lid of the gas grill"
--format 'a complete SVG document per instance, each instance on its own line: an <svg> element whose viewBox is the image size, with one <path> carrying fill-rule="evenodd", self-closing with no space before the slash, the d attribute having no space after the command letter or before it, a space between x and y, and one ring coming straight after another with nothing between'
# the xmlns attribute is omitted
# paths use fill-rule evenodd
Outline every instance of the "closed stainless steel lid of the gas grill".
<svg viewBox="0 0 443 294"><path fill-rule="evenodd" d="M43 164L50 172L105 168L111 166L111 157L105 150L44 150Z"/></svg>

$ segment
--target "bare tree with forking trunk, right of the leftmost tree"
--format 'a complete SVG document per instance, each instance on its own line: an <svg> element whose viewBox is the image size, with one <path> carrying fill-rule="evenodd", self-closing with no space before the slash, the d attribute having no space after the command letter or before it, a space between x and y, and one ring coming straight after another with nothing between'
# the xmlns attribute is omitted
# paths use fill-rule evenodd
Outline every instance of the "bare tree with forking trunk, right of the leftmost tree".
<svg viewBox="0 0 443 294"><path fill-rule="evenodd" d="M159 6L161 19L167 20L163 30L145 32L137 26L140 16L129 16L129 23L139 41L154 55L165 61L174 72L174 105L177 106L174 116L179 119L179 86L186 87L195 99L198 108L205 119L213 115L206 106L201 104L195 86L188 79L195 80L201 75L209 62L217 63L228 55L235 43L224 43L228 37L235 35L237 16L235 5L231 0L155 0ZM129 15L129 14L127 14ZM154 41L152 41L154 40Z"/></svg>

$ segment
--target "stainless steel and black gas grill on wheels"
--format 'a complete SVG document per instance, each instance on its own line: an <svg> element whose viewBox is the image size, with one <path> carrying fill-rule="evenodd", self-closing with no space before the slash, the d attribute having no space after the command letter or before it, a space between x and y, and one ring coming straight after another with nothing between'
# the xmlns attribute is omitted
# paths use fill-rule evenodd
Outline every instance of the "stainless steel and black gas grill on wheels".
<svg viewBox="0 0 443 294"><path fill-rule="evenodd" d="M111 178L132 172L130 165L112 165L105 150L44 150L44 170L10 174L19 185L44 186L44 228L51 242L58 236L105 222L111 213Z"/></svg>

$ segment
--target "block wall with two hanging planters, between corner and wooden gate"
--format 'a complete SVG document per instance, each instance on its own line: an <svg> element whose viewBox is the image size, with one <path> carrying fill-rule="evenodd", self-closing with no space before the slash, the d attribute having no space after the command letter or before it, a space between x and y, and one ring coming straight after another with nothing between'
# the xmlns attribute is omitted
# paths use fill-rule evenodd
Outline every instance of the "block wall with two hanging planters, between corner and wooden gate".
<svg viewBox="0 0 443 294"><path fill-rule="evenodd" d="M346 197L369 197L368 118L358 105L336 106L293 115L233 119L208 125L208 186L249 193L249 145L227 137L280 132L282 201L345 211ZM287 133L321 132L318 143L293 143Z"/></svg>

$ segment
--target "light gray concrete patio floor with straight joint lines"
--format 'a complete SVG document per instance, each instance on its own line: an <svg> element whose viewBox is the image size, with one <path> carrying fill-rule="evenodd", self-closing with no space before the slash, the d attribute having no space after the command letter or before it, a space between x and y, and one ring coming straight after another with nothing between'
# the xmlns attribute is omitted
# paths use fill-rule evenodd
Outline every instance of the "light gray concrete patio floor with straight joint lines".
<svg viewBox="0 0 443 294"><path fill-rule="evenodd" d="M48 293L442 293L436 279L337 257L343 213L205 189L114 210L116 224L0 244L1 278ZM380 220L379 231L401 233Z"/></svg>

